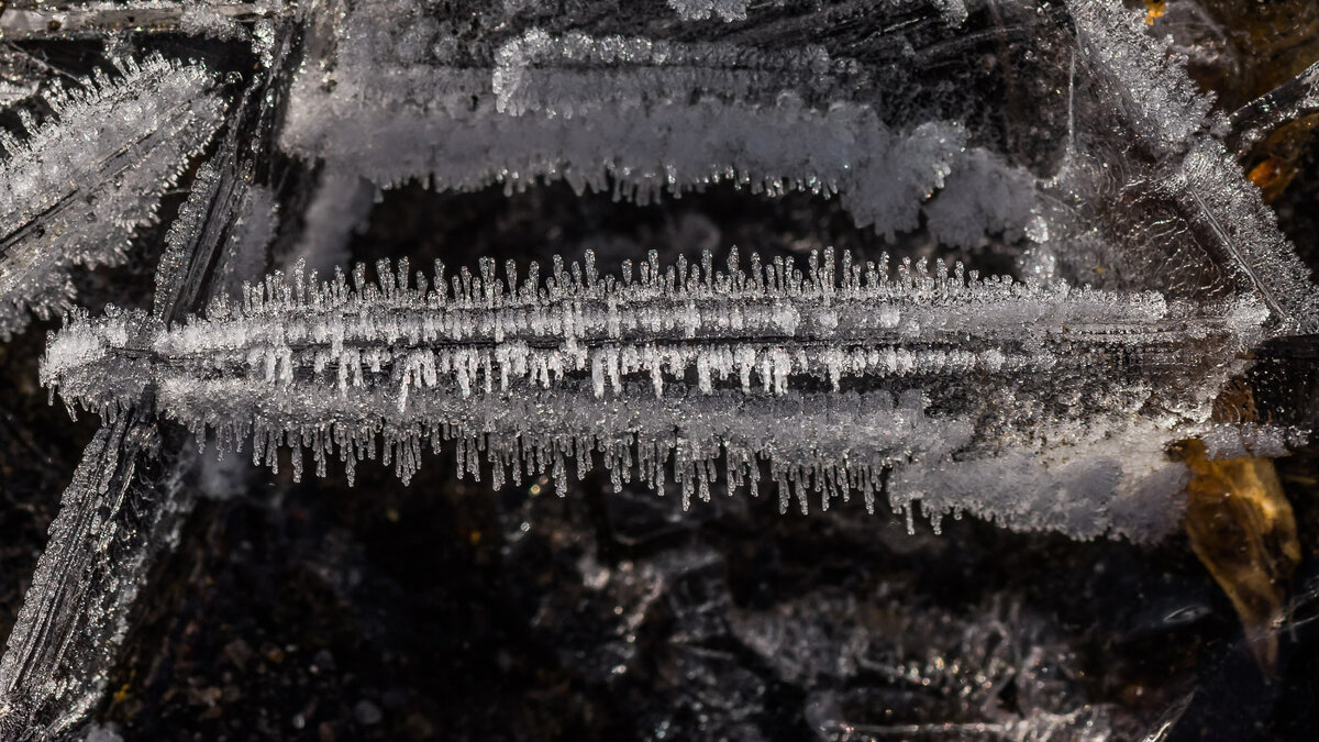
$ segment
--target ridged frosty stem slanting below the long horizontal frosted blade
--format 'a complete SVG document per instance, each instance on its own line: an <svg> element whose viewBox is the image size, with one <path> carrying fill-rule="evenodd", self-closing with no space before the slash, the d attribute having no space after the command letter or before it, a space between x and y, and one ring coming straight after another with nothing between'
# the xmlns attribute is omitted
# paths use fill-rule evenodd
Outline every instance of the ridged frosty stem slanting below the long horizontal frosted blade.
<svg viewBox="0 0 1319 742"><path fill-rule="evenodd" d="M57 738L104 692L145 564L187 511L154 429L125 415L83 452L0 660L0 738Z"/></svg>

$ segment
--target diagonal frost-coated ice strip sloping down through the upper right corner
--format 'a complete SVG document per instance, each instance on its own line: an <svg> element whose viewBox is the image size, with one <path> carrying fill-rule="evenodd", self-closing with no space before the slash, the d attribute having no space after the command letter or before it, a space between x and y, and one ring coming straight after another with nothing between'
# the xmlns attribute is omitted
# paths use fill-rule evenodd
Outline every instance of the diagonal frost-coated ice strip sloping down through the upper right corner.
<svg viewBox="0 0 1319 742"><path fill-rule="evenodd" d="M1167 40L1145 33L1138 15L1116 1L1068 0L1067 8L1076 21L1080 57L1103 71L1095 88L1101 106L1133 133L1128 147L1145 152L1122 157L1103 145L1091 166L1115 158L1117 177L1151 184L1154 198L1175 211L1149 214L1138 203L1119 209L1150 223L1171 220L1179 231L1161 235L1165 244L1158 250L1166 255L1188 250L1231 273L1229 290L1257 296L1268 306L1272 334L1319 331L1319 287L1228 151L1229 120L1212 110L1212 94L1196 88L1186 59ZM1082 191L1113 177L1099 169L1091 177L1070 174L1070 187Z"/></svg>

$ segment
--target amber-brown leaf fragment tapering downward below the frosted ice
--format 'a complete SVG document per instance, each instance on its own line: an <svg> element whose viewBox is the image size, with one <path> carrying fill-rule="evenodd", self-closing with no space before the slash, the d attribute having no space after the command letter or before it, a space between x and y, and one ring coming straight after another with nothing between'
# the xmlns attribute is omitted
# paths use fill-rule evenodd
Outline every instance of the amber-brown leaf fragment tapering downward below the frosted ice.
<svg viewBox="0 0 1319 742"><path fill-rule="evenodd" d="M1287 584L1301 561L1291 504L1272 459L1210 459L1198 440L1179 448L1191 470L1183 520L1191 548L1232 599L1250 654L1272 676Z"/></svg>

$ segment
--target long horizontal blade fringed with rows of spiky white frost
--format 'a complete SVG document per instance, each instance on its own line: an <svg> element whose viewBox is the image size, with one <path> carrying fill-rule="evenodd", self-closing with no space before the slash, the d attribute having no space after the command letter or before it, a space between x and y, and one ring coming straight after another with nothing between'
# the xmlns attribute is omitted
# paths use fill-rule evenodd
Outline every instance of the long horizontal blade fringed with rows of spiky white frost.
<svg viewBox="0 0 1319 742"><path fill-rule="evenodd" d="M319 474L377 455L412 477L421 446L455 440L459 471L496 486L584 474L685 500L721 482L782 506L810 491L872 503L892 473L913 500L1076 537L1146 539L1175 522L1162 445L1208 424L1210 401L1258 338L1250 305L1167 302L861 263L832 252L807 271L736 256L727 271L650 260L600 275L555 260L518 281L379 268L272 276L241 305L164 327L142 313L78 317L41 374L70 403L113 417L150 389L160 411L222 450L310 448ZM1122 453L1126 448L1126 453ZM1133 448L1134 446L1134 448ZM1132 452L1141 452L1134 455ZM294 455L295 475L302 455ZM764 463L762 463L764 462ZM1020 471L1018 471L1020 470ZM1010 492L967 486L1018 471ZM1070 483L1068 483L1070 482Z"/></svg>

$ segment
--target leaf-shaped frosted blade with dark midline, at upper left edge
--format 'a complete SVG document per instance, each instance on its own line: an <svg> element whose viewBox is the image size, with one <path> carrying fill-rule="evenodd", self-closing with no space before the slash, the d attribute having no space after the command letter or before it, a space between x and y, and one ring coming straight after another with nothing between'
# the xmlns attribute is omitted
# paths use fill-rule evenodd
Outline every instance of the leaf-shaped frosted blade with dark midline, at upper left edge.
<svg viewBox="0 0 1319 742"><path fill-rule="evenodd" d="M50 98L54 121L0 147L0 338L73 298L69 271L121 260L220 123L200 66L152 57Z"/></svg>

